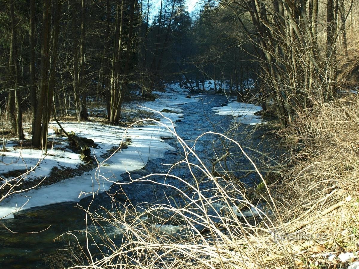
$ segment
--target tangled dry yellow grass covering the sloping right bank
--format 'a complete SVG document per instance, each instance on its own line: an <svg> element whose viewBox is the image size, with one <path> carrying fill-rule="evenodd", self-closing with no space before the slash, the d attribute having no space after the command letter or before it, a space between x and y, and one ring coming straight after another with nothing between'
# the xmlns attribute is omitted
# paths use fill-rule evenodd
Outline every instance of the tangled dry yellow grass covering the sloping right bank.
<svg viewBox="0 0 359 269"><path fill-rule="evenodd" d="M292 254L304 261L297 261L298 267L309 268L307 263L316 262L322 268L346 268L348 264L313 256L310 247L320 245L319 252L333 254L355 252L359 247L358 98L348 96L316 107L310 117L299 118L283 136L296 143L290 144L294 149L290 169L269 186L283 221L276 225L282 235L290 235L287 247L294 246ZM266 193L264 198L269 200L268 196ZM311 240L298 240L309 234ZM290 259L285 260L290 264Z"/></svg>

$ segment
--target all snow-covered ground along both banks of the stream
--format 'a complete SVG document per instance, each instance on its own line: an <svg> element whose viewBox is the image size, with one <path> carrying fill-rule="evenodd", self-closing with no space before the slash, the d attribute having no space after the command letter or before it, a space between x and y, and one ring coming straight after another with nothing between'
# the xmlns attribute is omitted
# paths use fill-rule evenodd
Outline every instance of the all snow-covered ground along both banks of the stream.
<svg viewBox="0 0 359 269"><path fill-rule="evenodd" d="M206 85L210 86L211 84L206 83ZM178 84L170 85L168 88L169 91L165 93L154 92L159 96L155 101L145 102L141 107L136 107L136 109L159 112L167 109L164 110L165 112L161 112L162 115L156 115L157 118L161 118L159 122L151 121L151 124L138 124L127 129L109 126L101 122L61 122L67 132L74 131L76 135L90 138L98 144L93 149L98 167L74 178L5 198L0 203L0 219L11 218L14 216L13 213L19 210L53 203L78 201L87 195L106 191L112 184L121 181L121 174L141 169L149 160L161 158L166 151L174 150L162 138L173 136L172 132L177 120L185 121L180 105L190 102L197 103L202 97L201 95L192 95L191 98L186 98L187 91L181 89ZM213 109L220 115L242 115L240 119L246 124L261 123L260 118L253 116L253 113L261 108L254 105L229 103L227 106ZM168 112L168 110L175 113ZM57 126L56 123L51 124ZM6 151L3 152L3 156L0 156L0 174L14 170L27 170L29 173L22 180L32 180L50 175L53 167L58 167L59 175L61 170L65 172L70 168L76 169L82 162L79 155L66 148L66 138L56 136L52 129L48 131L53 143L47 154L34 149L19 147L15 149L14 142L8 141ZM109 151L118 148L126 138L131 140L130 145L108 158ZM11 180L11 178L5 180Z"/></svg>

